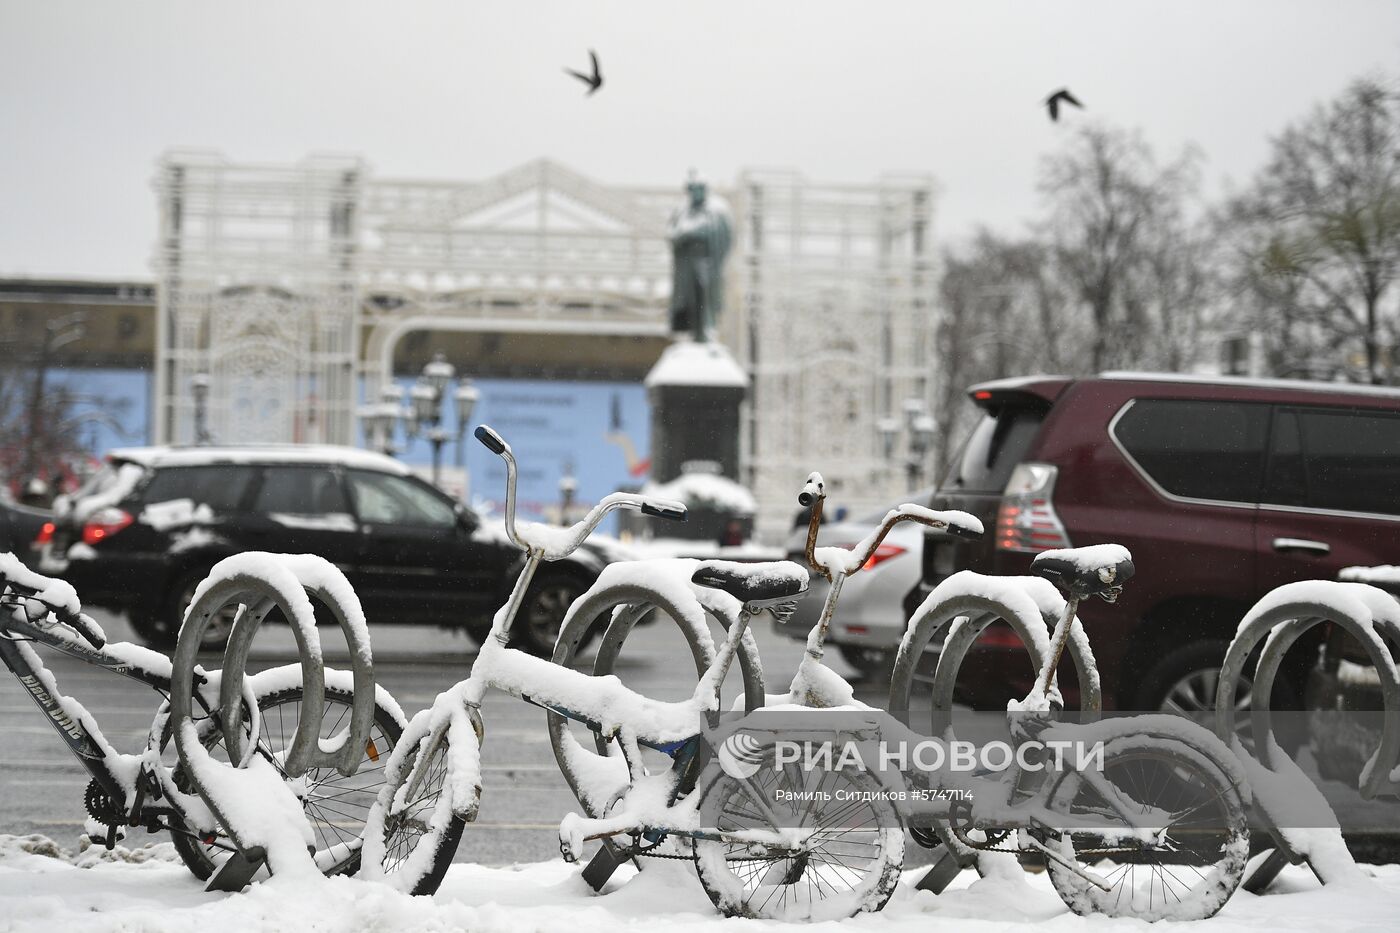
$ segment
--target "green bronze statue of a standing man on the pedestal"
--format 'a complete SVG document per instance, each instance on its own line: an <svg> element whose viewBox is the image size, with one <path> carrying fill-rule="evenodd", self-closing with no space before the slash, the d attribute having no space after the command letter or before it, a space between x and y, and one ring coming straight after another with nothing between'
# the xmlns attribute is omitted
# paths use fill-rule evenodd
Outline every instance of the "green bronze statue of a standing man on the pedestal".
<svg viewBox="0 0 1400 933"><path fill-rule="evenodd" d="M724 258L729 255L729 206L708 196L704 179L690 172L690 200L671 214L671 332L697 342L714 335L724 308Z"/></svg>

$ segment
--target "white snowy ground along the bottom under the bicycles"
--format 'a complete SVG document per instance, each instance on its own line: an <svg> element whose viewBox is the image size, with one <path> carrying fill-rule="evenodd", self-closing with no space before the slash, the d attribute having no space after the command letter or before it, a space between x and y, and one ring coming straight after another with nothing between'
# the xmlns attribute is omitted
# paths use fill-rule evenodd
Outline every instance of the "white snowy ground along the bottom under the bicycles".
<svg viewBox="0 0 1400 933"><path fill-rule="evenodd" d="M270 881L244 894L206 894L179 864L169 843L147 849L59 852L43 836L0 836L0 930L123 930L224 933L225 930L830 930L777 922L725 920L706 898L694 870L652 862L645 871L594 895L563 862L489 869L454 864L433 898L410 898L353 878L290 887ZM1137 920L1082 919L1070 913L1043 876L977 880L949 891L916 891L923 870L878 915L844 922L851 930L1144 930ZM1400 866L1366 869L1357 888L1323 890L1306 869L1288 869L1270 894L1238 892L1211 920L1210 933L1231 930L1394 930L1400 918ZM1154 929L1169 929L1168 926Z"/></svg>

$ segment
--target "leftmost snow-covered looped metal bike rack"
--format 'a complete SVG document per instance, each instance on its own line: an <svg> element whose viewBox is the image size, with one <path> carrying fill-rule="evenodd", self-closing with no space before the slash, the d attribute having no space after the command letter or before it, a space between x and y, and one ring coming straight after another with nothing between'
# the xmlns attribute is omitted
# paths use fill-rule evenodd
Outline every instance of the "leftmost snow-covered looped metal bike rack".
<svg viewBox="0 0 1400 933"><path fill-rule="evenodd" d="M228 560L238 560L245 555L237 555ZM300 593L290 591L279 581L269 580L265 573L253 569L235 569L224 572L221 579L206 588L199 598L190 604L181 626L179 642L175 647L174 671L171 677L171 712L175 733L175 747L181 765L189 778L190 786L204 800L218 824L228 832L230 839L238 849L224 866L209 880L209 891L239 891L256 874L258 869L267 864L269 871L280 867L267 863L266 848L258 841L245 838L237 821L230 820L230 801L221 800L227 790L216 790L206 786L199 779L197 769L190 765L192 748L185 737L185 723L190 721L190 702L193 699L195 663L199 654L200 640L209 625L224 611L237 609L228 644L224 649L224 665L220 681L220 720L223 726L224 747L230 761L241 762L245 758L246 735L244 734L244 679L246 675L248 653L252 647L258 628L273 612L280 609L297 639L297 653L301 661L302 702L297 721L297 735L287 751L286 761L279 762L281 772L287 778L301 778L314 768L335 768L342 775L353 775L363 758L364 747L370 730L374 724L374 663L368 635L361 626L351 626L346 618L347 607L342 605L333 588L323 586L328 574L339 574L330 563L311 555L259 555L262 560L276 560L277 566L290 572ZM216 565L211 576L220 573L228 560ZM343 580L343 577L342 577ZM349 591L349 583L343 590ZM321 727L325 714L325 663L321 653L321 636L311 628L302 630L295 625L294 602L301 595L308 605L319 602L335 616L340 629L346 635L350 646L350 658L354 675L354 698L350 713L350 727L346 740L335 749L321 747ZM302 605L301 608L308 608ZM353 607L360 614L358 605ZM256 710L251 710L256 716ZM200 748L203 752L203 748ZM291 793L288 790L288 793ZM311 862L309 855L307 860Z"/></svg>

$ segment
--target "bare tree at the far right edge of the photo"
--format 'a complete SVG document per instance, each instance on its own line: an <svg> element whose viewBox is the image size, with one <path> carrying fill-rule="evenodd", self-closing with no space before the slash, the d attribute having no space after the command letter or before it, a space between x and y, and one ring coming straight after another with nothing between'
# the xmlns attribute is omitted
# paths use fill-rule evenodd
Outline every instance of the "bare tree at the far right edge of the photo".
<svg viewBox="0 0 1400 933"><path fill-rule="evenodd" d="M1400 375L1400 94L1359 80L1274 141L1225 219L1281 375Z"/></svg>

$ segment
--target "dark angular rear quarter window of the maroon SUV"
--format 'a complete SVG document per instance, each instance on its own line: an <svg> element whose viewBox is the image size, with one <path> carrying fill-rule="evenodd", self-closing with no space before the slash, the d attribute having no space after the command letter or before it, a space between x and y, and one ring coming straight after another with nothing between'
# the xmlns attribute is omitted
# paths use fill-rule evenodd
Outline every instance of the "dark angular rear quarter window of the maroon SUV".
<svg viewBox="0 0 1400 933"><path fill-rule="evenodd" d="M1137 399L1114 437L1162 489L1187 499L1259 502L1268 405Z"/></svg>

